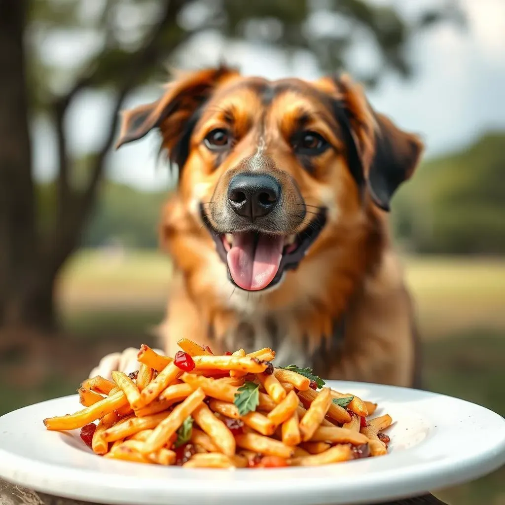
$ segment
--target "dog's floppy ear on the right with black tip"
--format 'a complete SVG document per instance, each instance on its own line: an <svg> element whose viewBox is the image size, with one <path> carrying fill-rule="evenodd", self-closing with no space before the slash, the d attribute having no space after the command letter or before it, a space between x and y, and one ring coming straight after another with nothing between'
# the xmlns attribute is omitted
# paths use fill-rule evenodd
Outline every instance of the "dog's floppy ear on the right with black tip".
<svg viewBox="0 0 505 505"><path fill-rule="evenodd" d="M326 77L315 84L332 97L335 119L347 144L352 176L361 190L368 188L378 207L389 211L394 192L417 167L423 151L420 138L375 113L362 87L348 76Z"/></svg>

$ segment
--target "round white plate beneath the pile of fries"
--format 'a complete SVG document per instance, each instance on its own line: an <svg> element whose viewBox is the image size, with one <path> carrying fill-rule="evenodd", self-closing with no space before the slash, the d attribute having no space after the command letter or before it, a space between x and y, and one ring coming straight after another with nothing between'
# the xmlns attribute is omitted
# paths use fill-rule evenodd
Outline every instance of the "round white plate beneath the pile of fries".
<svg viewBox="0 0 505 505"><path fill-rule="evenodd" d="M46 431L42 419L75 412L66 396L0 418L0 477L38 491L122 505L314 505L370 503L481 477L505 464L505 420L439 394L328 381L379 403L394 424L389 454L324 467L189 470L99 458L78 431Z"/></svg>

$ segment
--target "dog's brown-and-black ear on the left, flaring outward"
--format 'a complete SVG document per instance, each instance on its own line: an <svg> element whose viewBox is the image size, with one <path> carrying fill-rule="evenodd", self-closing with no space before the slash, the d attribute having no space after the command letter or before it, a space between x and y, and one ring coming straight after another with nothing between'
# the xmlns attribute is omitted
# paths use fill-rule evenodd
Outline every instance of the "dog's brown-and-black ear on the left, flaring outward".
<svg viewBox="0 0 505 505"><path fill-rule="evenodd" d="M181 166L188 148L181 142L189 141L186 137L196 122L198 109L217 86L238 75L236 69L225 66L180 74L167 85L165 94L156 102L122 112L116 148L159 128L170 160Z"/></svg>

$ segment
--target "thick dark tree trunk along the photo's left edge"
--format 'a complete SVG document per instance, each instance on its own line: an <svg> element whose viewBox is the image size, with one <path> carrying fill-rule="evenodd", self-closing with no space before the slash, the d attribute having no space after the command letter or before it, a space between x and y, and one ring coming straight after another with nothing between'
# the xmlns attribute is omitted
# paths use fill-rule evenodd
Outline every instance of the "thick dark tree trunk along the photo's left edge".
<svg viewBox="0 0 505 505"><path fill-rule="evenodd" d="M44 272L35 229L25 16L25 0L0 0L0 327L48 329L54 275Z"/></svg>

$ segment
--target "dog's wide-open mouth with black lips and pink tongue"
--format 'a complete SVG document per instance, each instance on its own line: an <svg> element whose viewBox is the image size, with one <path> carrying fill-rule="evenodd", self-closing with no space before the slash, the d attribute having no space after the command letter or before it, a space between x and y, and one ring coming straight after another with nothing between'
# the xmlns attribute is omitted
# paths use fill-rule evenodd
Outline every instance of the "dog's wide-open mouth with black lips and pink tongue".
<svg viewBox="0 0 505 505"><path fill-rule="evenodd" d="M295 269L326 224L326 209L300 233L281 235L268 230L220 233L201 216L210 231L221 260L228 266L230 280L245 291L275 286L286 270Z"/></svg>

